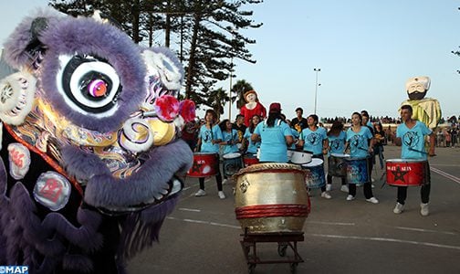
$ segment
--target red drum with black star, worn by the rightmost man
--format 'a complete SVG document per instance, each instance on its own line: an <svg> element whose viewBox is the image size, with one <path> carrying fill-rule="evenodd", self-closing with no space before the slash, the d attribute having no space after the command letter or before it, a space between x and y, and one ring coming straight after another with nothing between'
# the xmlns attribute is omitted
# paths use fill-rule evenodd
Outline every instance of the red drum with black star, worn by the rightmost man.
<svg viewBox="0 0 460 274"><path fill-rule="evenodd" d="M419 186L428 183L428 162L426 160L390 159L385 162L387 184Z"/></svg>

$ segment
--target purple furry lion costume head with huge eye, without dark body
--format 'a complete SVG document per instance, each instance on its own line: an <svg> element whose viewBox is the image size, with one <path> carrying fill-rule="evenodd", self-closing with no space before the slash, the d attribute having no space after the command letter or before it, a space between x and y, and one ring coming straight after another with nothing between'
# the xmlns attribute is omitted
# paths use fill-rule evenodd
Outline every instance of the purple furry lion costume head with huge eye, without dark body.
<svg viewBox="0 0 460 274"><path fill-rule="evenodd" d="M19 71L0 81L0 119L56 159L85 202L137 210L181 189L193 154L176 133L194 104L176 100L183 67L169 49L93 18L44 15L21 23L5 52Z"/></svg>

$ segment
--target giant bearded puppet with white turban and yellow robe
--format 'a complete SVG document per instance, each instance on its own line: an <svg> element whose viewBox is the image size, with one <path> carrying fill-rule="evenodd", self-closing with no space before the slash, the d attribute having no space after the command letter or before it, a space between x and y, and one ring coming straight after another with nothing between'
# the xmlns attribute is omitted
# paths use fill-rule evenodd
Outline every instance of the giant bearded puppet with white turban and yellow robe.
<svg viewBox="0 0 460 274"><path fill-rule="evenodd" d="M441 107L439 101L433 98L424 98L430 89L431 80L426 76L408 79L405 85L409 100L404 100L403 105L411 105L413 119L422 121L430 129L434 129L441 120ZM401 110L400 110L401 111Z"/></svg>

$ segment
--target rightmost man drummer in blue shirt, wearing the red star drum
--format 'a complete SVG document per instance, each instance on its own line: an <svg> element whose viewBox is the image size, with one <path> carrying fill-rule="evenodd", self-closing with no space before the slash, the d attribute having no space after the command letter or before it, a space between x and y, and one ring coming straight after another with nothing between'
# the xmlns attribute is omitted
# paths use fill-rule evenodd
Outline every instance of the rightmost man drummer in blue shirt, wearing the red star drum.
<svg viewBox="0 0 460 274"><path fill-rule="evenodd" d="M394 143L402 146L401 158L403 159L417 159L427 161L427 155L434 156L434 133L423 122L413 120L413 108L410 105L403 105L401 107L401 119L403 123L396 129L396 136L393 138ZM424 136L429 136L430 148L428 153L424 151ZM428 209L428 202L430 200L431 176L430 167L426 163L426 178L425 184L422 184L420 195L422 203L420 204L420 214L428 216L430 213ZM407 197L407 186L397 186L398 195L397 203L393 209L395 214L401 214L404 210L404 203Z"/></svg>

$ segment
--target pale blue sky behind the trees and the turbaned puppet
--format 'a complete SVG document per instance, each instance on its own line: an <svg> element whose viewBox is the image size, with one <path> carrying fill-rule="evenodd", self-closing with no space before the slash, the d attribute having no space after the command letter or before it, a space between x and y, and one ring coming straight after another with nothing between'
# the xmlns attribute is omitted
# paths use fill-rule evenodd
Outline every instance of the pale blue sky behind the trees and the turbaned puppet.
<svg viewBox="0 0 460 274"><path fill-rule="evenodd" d="M44 0L1 1L4 11L0 42L24 16ZM246 37L256 64L235 60L235 83L245 79L268 109L281 103L288 118L302 107L319 117L350 117L367 110L371 116L398 117L407 79L431 78L426 98L441 104L443 117L460 115L460 2L457 0L265 0L247 5L256 23ZM316 89L317 72L319 87ZM230 80L216 88L229 90ZM317 92L315 92L317 90ZM228 118L228 105L224 117ZM232 105L231 119L238 110ZM203 116L203 111L198 111Z"/></svg>

